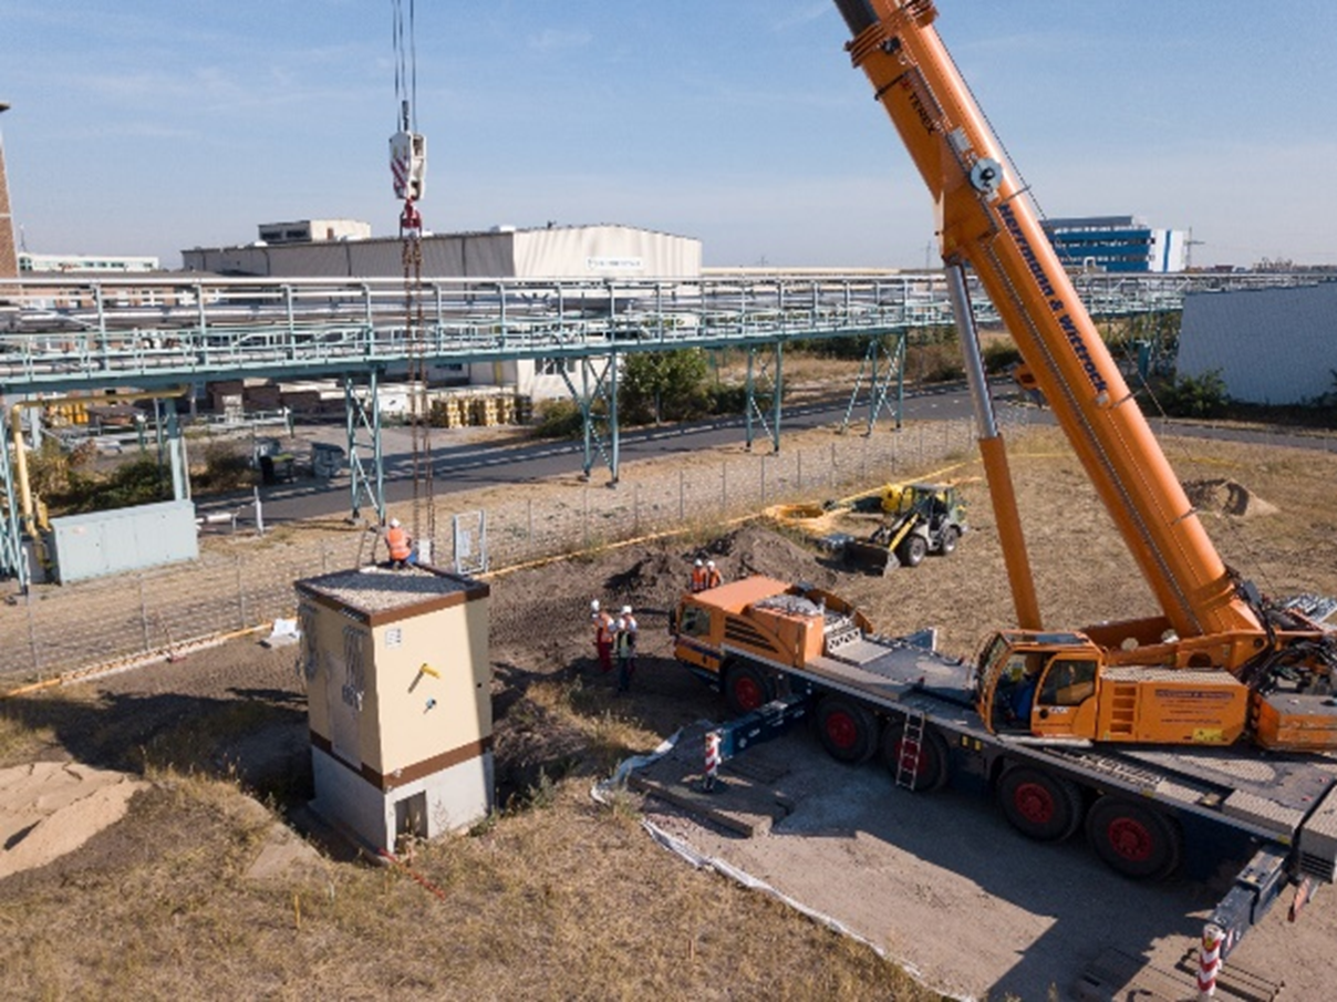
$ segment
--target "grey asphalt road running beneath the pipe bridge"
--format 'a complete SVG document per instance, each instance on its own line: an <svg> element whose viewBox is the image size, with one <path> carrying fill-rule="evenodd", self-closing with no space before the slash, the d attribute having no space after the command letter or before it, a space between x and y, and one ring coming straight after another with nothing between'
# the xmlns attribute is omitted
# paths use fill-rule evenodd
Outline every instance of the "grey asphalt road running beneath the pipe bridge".
<svg viewBox="0 0 1337 1002"><path fill-rule="evenodd" d="M1015 395L1005 391L999 395L996 407L1000 413L1020 407ZM846 412L848 400L830 404L808 405L786 411L781 429L781 449L785 448L785 432L818 428L838 424ZM1028 408L1029 423L1052 424L1048 411ZM906 393L902 407L905 423L963 420L971 416L971 397L963 385L949 385ZM852 427L861 431L868 421L868 405L862 404L852 415ZM890 417L884 412L882 427L889 427ZM1152 421L1158 431L1173 429L1175 435L1206 439L1230 439L1290 448L1322 449L1337 452L1337 437L1313 435L1293 435L1275 429L1217 428L1203 424ZM763 428L754 424L753 448L769 451L770 439ZM306 441L329 441L346 444L346 432L340 425L298 427L298 437ZM574 476L582 471L583 447L580 441L540 441L527 445L496 443L448 444L449 432L436 432L432 444L433 494L445 495L455 491L495 487L504 484L531 483L552 476ZM455 436L459 437L459 436ZM444 441L443 441L444 440ZM651 459L673 454L737 447L746 441L742 417L713 421L697 421L673 428L647 428L624 431L620 436L620 462ZM385 500L397 503L413 498L412 482L412 439L406 428L381 429L382 462L385 467ZM608 482L608 470L602 458L595 455L592 470L595 483ZM352 510L349 478L346 474L332 483L299 479L295 483L274 484L261 488L265 520L270 523L346 515ZM202 499L201 512L227 511L251 506L251 495L235 494ZM247 512L249 514L249 512ZM364 511L364 515L366 512Z"/></svg>

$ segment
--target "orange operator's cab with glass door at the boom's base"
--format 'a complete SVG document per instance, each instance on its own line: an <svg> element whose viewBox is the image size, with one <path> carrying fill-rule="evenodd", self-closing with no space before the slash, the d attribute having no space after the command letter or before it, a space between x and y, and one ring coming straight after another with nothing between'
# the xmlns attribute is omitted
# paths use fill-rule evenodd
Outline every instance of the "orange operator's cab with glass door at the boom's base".
<svg viewBox="0 0 1337 1002"><path fill-rule="evenodd" d="M976 670L976 709L992 733L1088 737L1095 730L1100 652L1079 633L1005 630Z"/></svg>

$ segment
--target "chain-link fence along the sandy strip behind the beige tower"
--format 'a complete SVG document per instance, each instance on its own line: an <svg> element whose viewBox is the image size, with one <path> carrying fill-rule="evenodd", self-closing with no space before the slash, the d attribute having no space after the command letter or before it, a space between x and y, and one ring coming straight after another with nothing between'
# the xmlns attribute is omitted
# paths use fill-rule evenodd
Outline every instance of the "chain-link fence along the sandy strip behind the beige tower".
<svg viewBox="0 0 1337 1002"><path fill-rule="evenodd" d="M1013 433L1028 412L1005 411ZM769 504L838 498L975 456L968 420L898 432L782 441L781 452L693 455L623 468L595 483L516 487L480 510L468 494L436 498L435 563L477 567L480 522L492 570L682 528L711 530ZM793 439L792 439L793 440ZM394 506L401 507L401 506ZM452 531L460 518L463 532ZM406 518L406 515L401 515ZM460 547L467 551L461 551ZM201 558L102 581L35 586L0 605L0 678L21 684L90 666L171 656L205 638L250 630L295 609L293 582L382 557L372 534L305 523L265 536L242 526L210 536Z"/></svg>

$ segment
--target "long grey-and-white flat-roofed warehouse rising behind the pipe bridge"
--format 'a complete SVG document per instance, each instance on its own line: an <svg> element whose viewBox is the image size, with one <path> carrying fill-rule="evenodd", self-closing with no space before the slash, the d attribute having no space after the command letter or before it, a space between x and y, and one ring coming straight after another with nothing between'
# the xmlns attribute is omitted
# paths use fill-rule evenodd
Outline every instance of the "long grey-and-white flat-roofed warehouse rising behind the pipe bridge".
<svg viewBox="0 0 1337 1002"><path fill-rule="evenodd" d="M265 239L233 247L180 253L187 272L282 278L369 278L402 276L397 237L364 238L328 223L266 223L283 242ZM365 226L365 223L361 223ZM312 234L289 242L289 233ZM698 278L701 241L634 226L554 226L422 237L422 278Z"/></svg>

